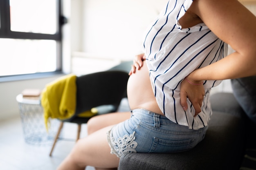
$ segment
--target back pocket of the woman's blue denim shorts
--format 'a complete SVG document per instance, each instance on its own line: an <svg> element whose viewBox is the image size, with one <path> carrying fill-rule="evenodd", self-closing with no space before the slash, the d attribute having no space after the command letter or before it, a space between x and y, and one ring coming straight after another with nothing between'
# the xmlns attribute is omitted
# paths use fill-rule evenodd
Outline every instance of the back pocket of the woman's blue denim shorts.
<svg viewBox="0 0 256 170"><path fill-rule="evenodd" d="M183 141L169 141L154 137L154 141L149 153L171 153L190 150L194 147L194 141L194 138Z"/></svg>

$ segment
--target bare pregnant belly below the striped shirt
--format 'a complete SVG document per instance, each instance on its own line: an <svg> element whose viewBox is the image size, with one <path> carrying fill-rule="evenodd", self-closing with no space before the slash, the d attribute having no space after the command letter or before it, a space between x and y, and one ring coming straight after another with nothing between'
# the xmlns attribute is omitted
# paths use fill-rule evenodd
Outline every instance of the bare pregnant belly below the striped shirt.
<svg viewBox="0 0 256 170"><path fill-rule="evenodd" d="M149 79L146 62L140 70L130 75L127 83L127 96L130 108L144 108L162 114L159 109Z"/></svg>

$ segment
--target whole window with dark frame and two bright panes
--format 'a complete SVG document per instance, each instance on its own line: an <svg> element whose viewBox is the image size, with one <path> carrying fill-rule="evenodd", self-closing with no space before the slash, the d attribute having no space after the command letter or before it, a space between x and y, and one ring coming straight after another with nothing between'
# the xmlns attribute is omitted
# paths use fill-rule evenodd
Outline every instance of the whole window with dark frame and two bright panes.
<svg viewBox="0 0 256 170"><path fill-rule="evenodd" d="M0 0L0 78L61 71L61 0Z"/></svg>

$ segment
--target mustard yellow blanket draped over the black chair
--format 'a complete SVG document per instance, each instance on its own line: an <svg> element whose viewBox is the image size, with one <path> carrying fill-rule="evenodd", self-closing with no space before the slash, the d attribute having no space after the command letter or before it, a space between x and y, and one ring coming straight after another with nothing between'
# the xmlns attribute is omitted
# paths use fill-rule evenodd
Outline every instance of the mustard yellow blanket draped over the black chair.
<svg viewBox="0 0 256 170"><path fill-rule="evenodd" d="M76 75L69 74L49 83L41 93L45 126L49 118L68 119L76 111Z"/></svg>

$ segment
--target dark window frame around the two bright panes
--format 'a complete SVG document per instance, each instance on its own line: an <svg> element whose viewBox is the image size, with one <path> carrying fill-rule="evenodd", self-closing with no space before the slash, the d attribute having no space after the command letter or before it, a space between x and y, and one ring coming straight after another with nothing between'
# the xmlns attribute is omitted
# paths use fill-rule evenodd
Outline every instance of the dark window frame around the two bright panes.
<svg viewBox="0 0 256 170"><path fill-rule="evenodd" d="M31 79L35 77L45 77L47 75L54 75L62 73L62 30L61 27L66 23L65 17L62 16L62 4L61 0L56 0L56 17L57 26L55 34L45 34L45 33L26 33L11 31L10 22L10 1L0 0L0 38L10 38L10 39L29 39L29 40L55 40L56 41L56 71L44 72L44 73L30 73L21 75L6 75L0 76L0 82L11 81L16 79Z"/></svg>

